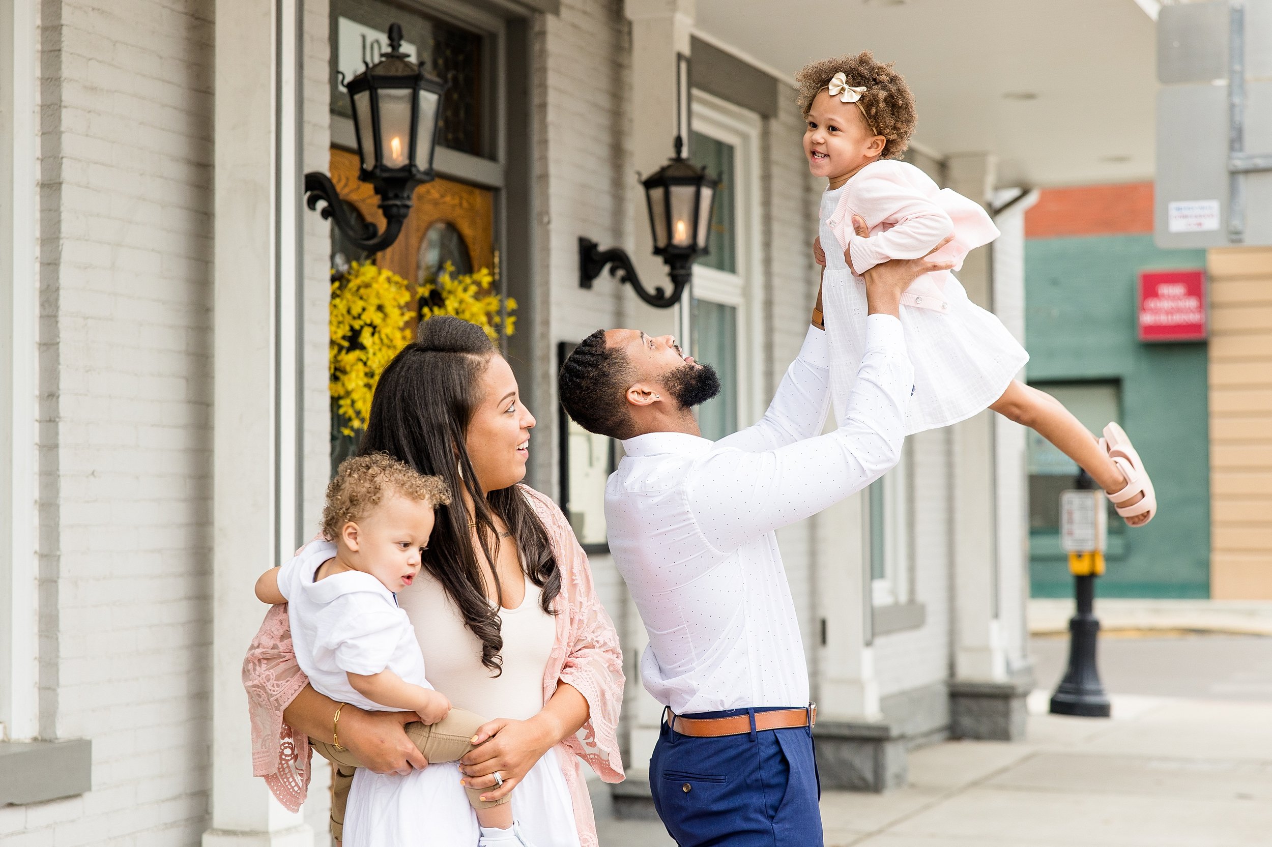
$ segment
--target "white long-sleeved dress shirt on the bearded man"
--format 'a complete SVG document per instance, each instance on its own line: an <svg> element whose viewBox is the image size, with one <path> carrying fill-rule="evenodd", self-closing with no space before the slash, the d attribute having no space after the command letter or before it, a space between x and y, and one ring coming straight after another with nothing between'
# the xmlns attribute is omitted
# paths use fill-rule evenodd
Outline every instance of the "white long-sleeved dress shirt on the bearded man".
<svg viewBox="0 0 1272 847"><path fill-rule="evenodd" d="M614 565L649 631L645 688L678 715L808 703L808 666L775 530L892 468L913 370L901 322L870 315L866 352L834 432L829 354L810 328L764 417L720 441L650 432L623 441L605 485Z"/></svg>

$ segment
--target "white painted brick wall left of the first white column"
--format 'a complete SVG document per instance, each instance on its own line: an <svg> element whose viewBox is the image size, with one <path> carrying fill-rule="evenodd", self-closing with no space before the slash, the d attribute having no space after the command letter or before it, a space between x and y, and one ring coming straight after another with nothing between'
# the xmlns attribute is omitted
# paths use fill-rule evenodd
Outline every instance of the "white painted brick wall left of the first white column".
<svg viewBox="0 0 1272 847"><path fill-rule="evenodd" d="M94 790L0 843L192 844L207 813L209 5L42 8L41 734Z"/></svg>

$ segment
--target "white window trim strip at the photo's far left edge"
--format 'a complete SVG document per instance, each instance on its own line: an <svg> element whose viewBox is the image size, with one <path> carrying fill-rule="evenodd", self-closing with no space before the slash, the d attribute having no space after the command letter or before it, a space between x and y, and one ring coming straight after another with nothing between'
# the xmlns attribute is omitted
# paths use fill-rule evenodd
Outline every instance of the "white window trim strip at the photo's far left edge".
<svg viewBox="0 0 1272 847"><path fill-rule="evenodd" d="M9 740L38 734L34 6L0 0L0 739Z"/></svg>

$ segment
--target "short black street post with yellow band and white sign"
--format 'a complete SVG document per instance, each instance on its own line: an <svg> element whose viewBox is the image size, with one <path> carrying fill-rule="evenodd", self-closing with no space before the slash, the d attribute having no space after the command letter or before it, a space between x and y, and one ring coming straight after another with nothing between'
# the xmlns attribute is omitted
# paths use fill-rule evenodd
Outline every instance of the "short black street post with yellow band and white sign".
<svg viewBox="0 0 1272 847"><path fill-rule="evenodd" d="M1051 698L1053 715L1108 717L1110 712L1109 698L1095 666L1100 622L1094 613L1095 577L1104 572L1107 539L1108 507L1104 492L1062 491L1060 543L1068 553L1076 610L1068 621L1068 669Z"/></svg>

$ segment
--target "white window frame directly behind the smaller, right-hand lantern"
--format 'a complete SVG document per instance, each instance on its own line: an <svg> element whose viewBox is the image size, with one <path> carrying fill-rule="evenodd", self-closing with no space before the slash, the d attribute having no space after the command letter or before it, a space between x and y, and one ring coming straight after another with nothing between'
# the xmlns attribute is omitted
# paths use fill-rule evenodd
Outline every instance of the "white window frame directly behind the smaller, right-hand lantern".
<svg viewBox="0 0 1272 847"><path fill-rule="evenodd" d="M749 426L764 413L759 369L763 340L759 290L759 139L758 114L705 92L692 94L695 132L733 145L734 231L736 273L693 266L688 296L738 309L738 427ZM691 300L692 301L692 300ZM683 312L688 313L688 309ZM682 333L688 337L687 333Z"/></svg>

